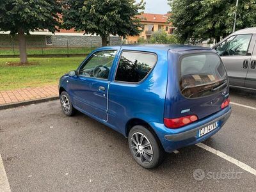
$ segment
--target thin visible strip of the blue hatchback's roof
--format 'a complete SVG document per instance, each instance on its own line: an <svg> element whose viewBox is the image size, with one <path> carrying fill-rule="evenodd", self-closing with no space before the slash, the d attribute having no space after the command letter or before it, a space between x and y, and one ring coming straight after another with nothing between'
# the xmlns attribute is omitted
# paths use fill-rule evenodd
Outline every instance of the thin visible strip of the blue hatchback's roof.
<svg viewBox="0 0 256 192"><path fill-rule="evenodd" d="M123 49L131 49L131 50L159 50L159 51L189 51L189 50L202 50L204 49L212 51L211 48L200 47L195 45L176 45L176 44L134 44L134 45L120 45ZM111 48L115 48L116 46L108 46ZM106 47L107 48L107 47Z"/></svg>

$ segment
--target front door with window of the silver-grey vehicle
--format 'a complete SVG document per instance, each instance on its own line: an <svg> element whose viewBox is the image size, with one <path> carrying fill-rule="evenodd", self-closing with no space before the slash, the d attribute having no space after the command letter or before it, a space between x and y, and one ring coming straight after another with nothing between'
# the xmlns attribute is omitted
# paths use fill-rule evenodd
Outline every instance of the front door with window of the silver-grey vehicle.
<svg viewBox="0 0 256 192"><path fill-rule="evenodd" d="M231 86L244 86L254 46L251 40L252 34L233 35L214 47L227 68Z"/></svg>

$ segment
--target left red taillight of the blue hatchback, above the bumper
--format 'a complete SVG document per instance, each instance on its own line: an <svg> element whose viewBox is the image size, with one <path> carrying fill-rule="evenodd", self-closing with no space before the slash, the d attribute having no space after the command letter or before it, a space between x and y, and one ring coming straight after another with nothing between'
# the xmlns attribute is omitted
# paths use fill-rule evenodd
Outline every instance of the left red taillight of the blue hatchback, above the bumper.
<svg viewBox="0 0 256 192"><path fill-rule="evenodd" d="M196 115L182 116L179 118L164 118L164 125L170 129L177 129L198 120Z"/></svg>

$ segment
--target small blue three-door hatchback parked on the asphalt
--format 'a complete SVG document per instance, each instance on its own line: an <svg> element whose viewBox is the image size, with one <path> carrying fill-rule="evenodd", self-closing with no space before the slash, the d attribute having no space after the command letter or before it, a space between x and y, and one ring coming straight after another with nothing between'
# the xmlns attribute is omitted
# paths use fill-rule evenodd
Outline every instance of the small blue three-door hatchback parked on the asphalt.
<svg viewBox="0 0 256 192"><path fill-rule="evenodd" d="M231 113L226 69L204 47L102 47L62 76L59 89L65 115L81 111L123 134L144 168L211 137Z"/></svg>

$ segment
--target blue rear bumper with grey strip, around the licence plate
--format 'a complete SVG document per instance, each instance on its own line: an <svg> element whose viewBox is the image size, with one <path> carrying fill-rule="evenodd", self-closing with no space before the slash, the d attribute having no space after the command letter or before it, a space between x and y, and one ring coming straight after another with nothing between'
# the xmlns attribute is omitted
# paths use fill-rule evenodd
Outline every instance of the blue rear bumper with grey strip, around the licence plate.
<svg viewBox="0 0 256 192"><path fill-rule="evenodd" d="M231 111L231 107L228 106L227 108L222 109L221 111L214 113L211 116L207 116L202 120L198 120L193 124L186 125L185 127L181 127L179 129L168 129L163 124L153 122L151 122L150 125L154 128L154 131L156 131L156 134L161 141L164 150L166 152L173 152L173 150L177 150L178 148L200 143L216 134L216 132L220 131L225 122L227 122L229 116L231 115ZM218 128L208 132L200 138L197 137L199 129L213 124L216 121L220 122Z"/></svg>

